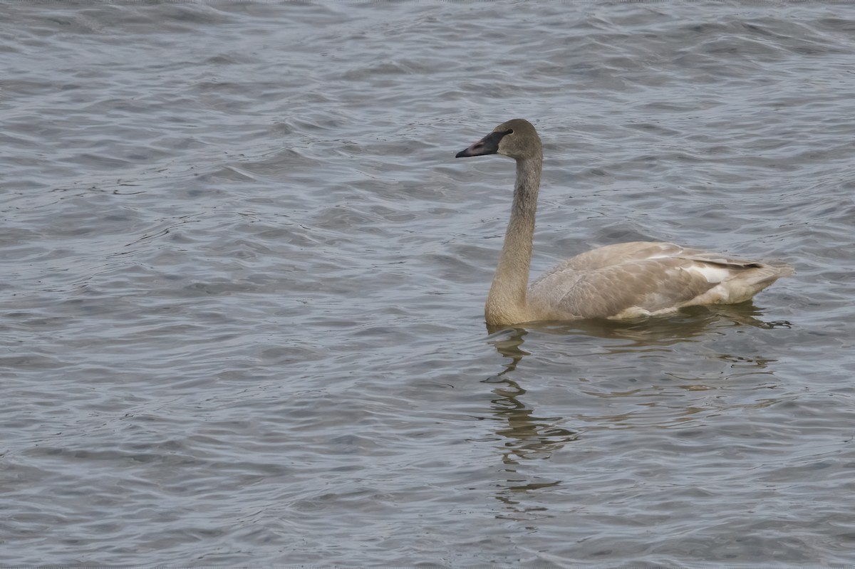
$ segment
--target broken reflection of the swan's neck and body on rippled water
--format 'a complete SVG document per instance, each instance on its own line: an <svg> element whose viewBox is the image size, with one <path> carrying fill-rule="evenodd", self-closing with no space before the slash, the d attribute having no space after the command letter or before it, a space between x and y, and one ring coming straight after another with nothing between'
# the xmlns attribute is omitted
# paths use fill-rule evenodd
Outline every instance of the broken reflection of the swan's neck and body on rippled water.
<svg viewBox="0 0 855 569"><path fill-rule="evenodd" d="M526 462L553 460L562 449L569 452L568 443L602 431L645 427L686 433L720 423L730 410L781 401L775 360L754 351L763 340L746 344L741 335L749 328L792 325L762 316L746 302L643 320L538 322L493 330L487 341L506 360L482 382L491 390L492 440L498 442L504 473L495 496L503 503L499 515L520 520L548 515L541 497L524 495L561 486L564 479L545 474L549 466ZM527 339L531 349L523 346ZM526 365L532 351L537 356ZM539 390L552 386L549 412L527 401L528 383ZM572 478L572 470L560 472Z"/></svg>

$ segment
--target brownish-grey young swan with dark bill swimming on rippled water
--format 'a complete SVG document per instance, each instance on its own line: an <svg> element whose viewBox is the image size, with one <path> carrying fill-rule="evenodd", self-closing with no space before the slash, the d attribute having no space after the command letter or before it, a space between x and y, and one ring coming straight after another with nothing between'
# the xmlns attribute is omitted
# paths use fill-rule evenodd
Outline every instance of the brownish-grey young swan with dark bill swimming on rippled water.
<svg viewBox="0 0 855 569"><path fill-rule="evenodd" d="M699 304L745 302L793 273L784 264L748 261L674 243L607 245L552 267L528 285L543 147L528 120L502 123L457 153L516 160L510 223L484 317L488 326L537 320L627 319Z"/></svg>

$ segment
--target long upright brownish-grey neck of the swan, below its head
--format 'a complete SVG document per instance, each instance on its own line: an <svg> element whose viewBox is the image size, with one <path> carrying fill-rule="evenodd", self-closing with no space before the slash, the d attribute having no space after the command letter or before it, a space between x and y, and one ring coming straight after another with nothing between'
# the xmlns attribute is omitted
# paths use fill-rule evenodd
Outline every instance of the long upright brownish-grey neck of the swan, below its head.
<svg viewBox="0 0 855 569"><path fill-rule="evenodd" d="M526 290L542 165L543 157L540 153L516 161L516 187L510 223L484 308L487 324L518 324L530 320L526 315Z"/></svg>

